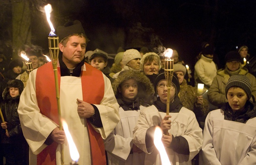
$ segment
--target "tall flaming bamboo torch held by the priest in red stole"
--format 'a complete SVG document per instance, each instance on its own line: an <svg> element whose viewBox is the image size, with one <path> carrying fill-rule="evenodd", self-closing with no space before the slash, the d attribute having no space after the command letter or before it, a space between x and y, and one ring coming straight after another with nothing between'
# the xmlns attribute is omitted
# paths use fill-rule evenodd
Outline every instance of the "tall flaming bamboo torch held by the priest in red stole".
<svg viewBox="0 0 256 165"><path fill-rule="evenodd" d="M54 34L55 29L50 21L50 13L52 12L52 5L47 4L45 5L45 13L47 21L50 25L51 31L48 36L48 43L49 43L49 51L50 56L52 58L52 66L54 71L54 78L55 78L55 87L56 87L56 99L57 99L57 106L58 106L58 117L59 117L59 130L63 130L62 123L61 123L61 111L60 111L60 102L59 102L59 83L58 83L58 70L57 70L57 62L59 57L59 36ZM64 165L64 145L61 144L61 165Z"/></svg>

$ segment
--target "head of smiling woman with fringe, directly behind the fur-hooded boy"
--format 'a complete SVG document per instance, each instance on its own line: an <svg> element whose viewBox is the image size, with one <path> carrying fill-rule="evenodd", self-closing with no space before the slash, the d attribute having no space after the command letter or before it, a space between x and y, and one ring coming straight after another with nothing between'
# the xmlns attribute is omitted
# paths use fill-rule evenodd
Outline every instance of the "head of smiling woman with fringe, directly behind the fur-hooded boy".
<svg viewBox="0 0 256 165"><path fill-rule="evenodd" d="M141 58L141 71L150 79L151 83L154 83L158 74L163 73L161 69L160 56L154 52L149 52L143 55Z"/></svg>

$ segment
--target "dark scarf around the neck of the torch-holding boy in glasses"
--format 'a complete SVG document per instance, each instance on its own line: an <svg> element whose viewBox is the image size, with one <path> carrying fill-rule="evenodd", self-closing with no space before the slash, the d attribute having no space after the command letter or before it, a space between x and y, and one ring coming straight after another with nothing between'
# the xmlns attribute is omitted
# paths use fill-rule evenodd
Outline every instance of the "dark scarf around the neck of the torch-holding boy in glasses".
<svg viewBox="0 0 256 165"><path fill-rule="evenodd" d="M161 102L160 97L157 98L157 100L153 103L153 105L156 106L158 111L166 113L166 104ZM169 111L172 113L178 113L180 112L181 108L182 108L182 103L180 102L180 99L178 98L178 96L175 96L173 103L170 103Z"/></svg>

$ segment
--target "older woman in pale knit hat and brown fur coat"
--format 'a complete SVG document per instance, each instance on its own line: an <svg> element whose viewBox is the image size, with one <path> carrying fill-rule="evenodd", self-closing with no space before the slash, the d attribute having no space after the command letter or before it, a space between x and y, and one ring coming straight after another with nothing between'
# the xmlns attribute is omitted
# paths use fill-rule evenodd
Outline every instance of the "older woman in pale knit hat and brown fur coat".
<svg viewBox="0 0 256 165"><path fill-rule="evenodd" d="M177 74L180 83L180 102L184 107L193 111L196 117L202 117L208 113L208 101L203 99L202 95L197 94L197 87L187 85L184 79L186 74L186 67L182 64L174 64L174 73ZM200 122L198 122L200 124Z"/></svg>

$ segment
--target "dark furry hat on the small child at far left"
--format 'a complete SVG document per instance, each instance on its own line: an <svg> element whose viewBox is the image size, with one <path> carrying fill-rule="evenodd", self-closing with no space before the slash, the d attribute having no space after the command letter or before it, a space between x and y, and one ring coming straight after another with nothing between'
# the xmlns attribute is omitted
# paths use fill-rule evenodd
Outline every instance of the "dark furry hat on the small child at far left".
<svg viewBox="0 0 256 165"><path fill-rule="evenodd" d="M23 88L24 88L24 84L21 80L17 80L17 79L10 80L7 83L7 87L4 89L4 91L2 93L2 97L4 100L8 100L11 98L10 93L9 93L10 87L19 88L19 93L21 94L21 92L23 91ZM20 94L18 96L20 96ZM17 98L19 98L18 96L17 96Z"/></svg>

